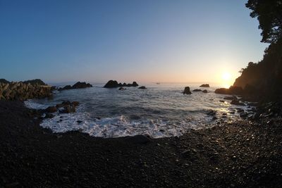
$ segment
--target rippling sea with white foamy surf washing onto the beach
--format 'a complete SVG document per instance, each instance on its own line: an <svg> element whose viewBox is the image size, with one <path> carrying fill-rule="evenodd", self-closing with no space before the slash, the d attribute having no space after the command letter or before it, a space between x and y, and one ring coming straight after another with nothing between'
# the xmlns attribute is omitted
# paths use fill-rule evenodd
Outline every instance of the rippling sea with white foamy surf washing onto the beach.
<svg viewBox="0 0 282 188"><path fill-rule="evenodd" d="M191 129L232 122L239 118L238 109L250 108L223 100L226 95L214 93L219 87L200 88L199 84L145 84L147 89L125 87L123 91L103 86L93 84L91 88L55 92L54 99L32 99L25 101L25 105L39 109L67 100L79 101L75 113L54 113L54 118L42 121L42 127L54 132L80 130L94 137L148 134L155 138L180 136ZM208 93L184 95L185 86L191 91L207 89ZM217 120L207 115L211 110L216 111Z"/></svg>

